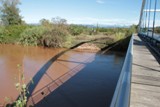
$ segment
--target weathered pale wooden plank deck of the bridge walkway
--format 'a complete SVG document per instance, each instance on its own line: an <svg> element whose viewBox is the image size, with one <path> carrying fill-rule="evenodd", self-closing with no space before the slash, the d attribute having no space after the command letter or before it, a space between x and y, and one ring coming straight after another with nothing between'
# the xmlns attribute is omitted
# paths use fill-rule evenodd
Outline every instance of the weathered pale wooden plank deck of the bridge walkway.
<svg viewBox="0 0 160 107"><path fill-rule="evenodd" d="M160 65L138 36L134 37L130 107L160 106Z"/></svg>

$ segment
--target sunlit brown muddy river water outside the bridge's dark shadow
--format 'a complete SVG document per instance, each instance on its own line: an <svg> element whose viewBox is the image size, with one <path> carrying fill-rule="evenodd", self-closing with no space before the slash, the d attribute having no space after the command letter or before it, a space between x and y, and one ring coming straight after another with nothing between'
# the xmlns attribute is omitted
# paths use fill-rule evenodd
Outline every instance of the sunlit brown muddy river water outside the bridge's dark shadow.
<svg viewBox="0 0 160 107"><path fill-rule="evenodd" d="M63 50L43 47L23 47L19 45L0 45L0 105L4 105L5 97L8 97L12 102L18 96L18 91L15 88L15 83L17 83L16 78L19 73L17 64L22 65L21 72L24 71L25 82L27 84L48 60ZM37 85L34 92L71 71L73 68L77 67L77 69L80 69L83 67L79 63L72 63L73 61L85 62L85 60L94 55L95 53L77 51L65 53L49 67L46 71L47 73L41 79L40 85ZM81 67L78 67L78 65L81 65Z"/></svg>

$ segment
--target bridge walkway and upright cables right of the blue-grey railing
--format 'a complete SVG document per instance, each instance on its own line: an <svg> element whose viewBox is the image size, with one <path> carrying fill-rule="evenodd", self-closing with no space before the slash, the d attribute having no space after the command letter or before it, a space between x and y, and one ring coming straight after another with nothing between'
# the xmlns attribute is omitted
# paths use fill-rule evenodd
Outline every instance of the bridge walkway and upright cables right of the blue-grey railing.
<svg viewBox="0 0 160 107"><path fill-rule="evenodd" d="M160 105L160 34L155 31L158 6L158 0L142 3L139 37L134 37L133 44L130 107Z"/></svg>

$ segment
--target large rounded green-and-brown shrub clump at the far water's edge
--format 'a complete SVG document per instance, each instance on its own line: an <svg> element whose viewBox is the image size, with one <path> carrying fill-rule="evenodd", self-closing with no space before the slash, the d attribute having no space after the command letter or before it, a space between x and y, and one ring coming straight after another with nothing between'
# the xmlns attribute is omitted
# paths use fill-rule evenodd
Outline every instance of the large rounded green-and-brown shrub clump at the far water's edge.
<svg viewBox="0 0 160 107"><path fill-rule="evenodd" d="M61 27L55 26L48 28L45 26L35 26L27 28L21 35L19 43L25 46L44 47L64 47L68 32Z"/></svg>

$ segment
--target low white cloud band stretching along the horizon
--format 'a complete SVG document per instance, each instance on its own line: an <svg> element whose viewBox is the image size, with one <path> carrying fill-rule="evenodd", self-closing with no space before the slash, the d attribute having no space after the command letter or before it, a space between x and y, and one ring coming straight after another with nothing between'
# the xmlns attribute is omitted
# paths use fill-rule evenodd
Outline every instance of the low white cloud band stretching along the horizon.
<svg viewBox="0 0 160 107"><path fill-rule="evenodd" d="M102 24L102 25L119 25L129 26L132 24L138 24L138 19L107 19L107 18L92 18L92 17L81 17L67 19L69 24Z"/></svg>

